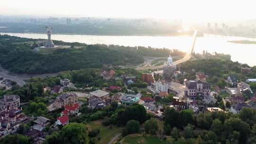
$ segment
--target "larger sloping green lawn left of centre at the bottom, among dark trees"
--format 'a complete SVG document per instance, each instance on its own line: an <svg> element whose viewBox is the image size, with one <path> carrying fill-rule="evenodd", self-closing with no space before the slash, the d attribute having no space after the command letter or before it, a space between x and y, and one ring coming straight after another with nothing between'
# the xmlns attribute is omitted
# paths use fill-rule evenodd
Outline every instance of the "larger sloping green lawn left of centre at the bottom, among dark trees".
<svg viewBox="0 0 256 144"><path fill-rule="evenodd" d="M91 129L100 129L100 134L96 136L96 143L95 144L108 144L110 139L114 137L116 134L120 133L123 129L123 127L117 127L117 126L112 126L112 129L109 128L109 126L102 126L102 119L101 120L96 120L96 121L91 121L86 124L89 130ZM101 138L98 140L98 138Z"/></svg>

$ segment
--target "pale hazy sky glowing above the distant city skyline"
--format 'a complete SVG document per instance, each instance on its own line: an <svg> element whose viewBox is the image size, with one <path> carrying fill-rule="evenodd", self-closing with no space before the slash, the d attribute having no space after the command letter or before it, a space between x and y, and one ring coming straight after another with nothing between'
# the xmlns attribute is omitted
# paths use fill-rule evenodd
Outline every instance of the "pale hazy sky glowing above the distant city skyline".
<svg viewBox="0 0 256 144"><path fill-rule="evenodd" d="M0 0L0 15L256 18L256 0Z"/></svg>

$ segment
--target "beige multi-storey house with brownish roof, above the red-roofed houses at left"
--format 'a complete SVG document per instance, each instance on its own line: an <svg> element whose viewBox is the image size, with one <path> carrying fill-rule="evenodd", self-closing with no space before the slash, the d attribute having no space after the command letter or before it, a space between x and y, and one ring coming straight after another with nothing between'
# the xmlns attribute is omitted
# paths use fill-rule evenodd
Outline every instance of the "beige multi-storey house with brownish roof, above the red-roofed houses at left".
<svg viewBox="0 0 256 144"><path fill-rule="evenodd" d="M78 96L73 92L63 93L59 95L54 102L56 108L63 108L78 102Z"/></svg>

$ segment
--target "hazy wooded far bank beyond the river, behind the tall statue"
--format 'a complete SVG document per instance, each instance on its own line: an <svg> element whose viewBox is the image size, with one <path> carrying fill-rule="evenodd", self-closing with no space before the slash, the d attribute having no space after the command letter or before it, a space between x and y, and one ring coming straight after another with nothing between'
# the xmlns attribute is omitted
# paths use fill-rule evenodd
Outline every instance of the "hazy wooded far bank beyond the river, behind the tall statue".
<svg viewBox="0 0 256 144"><path fill-rule="evenodd" d="M45 33L46 24L24 24L24 23L0 23L0 32L11 33ZM52 24L54 33L57 34L86 34L86 35L190 35L189 33L178 33L178 26L168 27L143 27L119 24Z"/></svg>

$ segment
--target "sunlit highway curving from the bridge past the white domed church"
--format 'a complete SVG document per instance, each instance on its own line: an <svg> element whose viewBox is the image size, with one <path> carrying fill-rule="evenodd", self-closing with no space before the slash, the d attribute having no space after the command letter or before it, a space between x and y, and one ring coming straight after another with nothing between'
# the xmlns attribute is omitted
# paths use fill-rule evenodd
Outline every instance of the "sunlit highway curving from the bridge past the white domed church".
<svg viewBox="0 0 256 144"><path fill-rule="evenodd" d="M194 51L196 35L197 35L197 30L195 30L195 32L192 36L192 45L191 45L190 49L188 50L188 52L186 53L186 55L182 59L175 61L174 64L180 64L180 63L186 62L191 58L192 52ZM164 65L151 66L151 67L140 67L140 68L137 68L137 70L161 69L161 68L163 68L163 66Z"/></svg>

